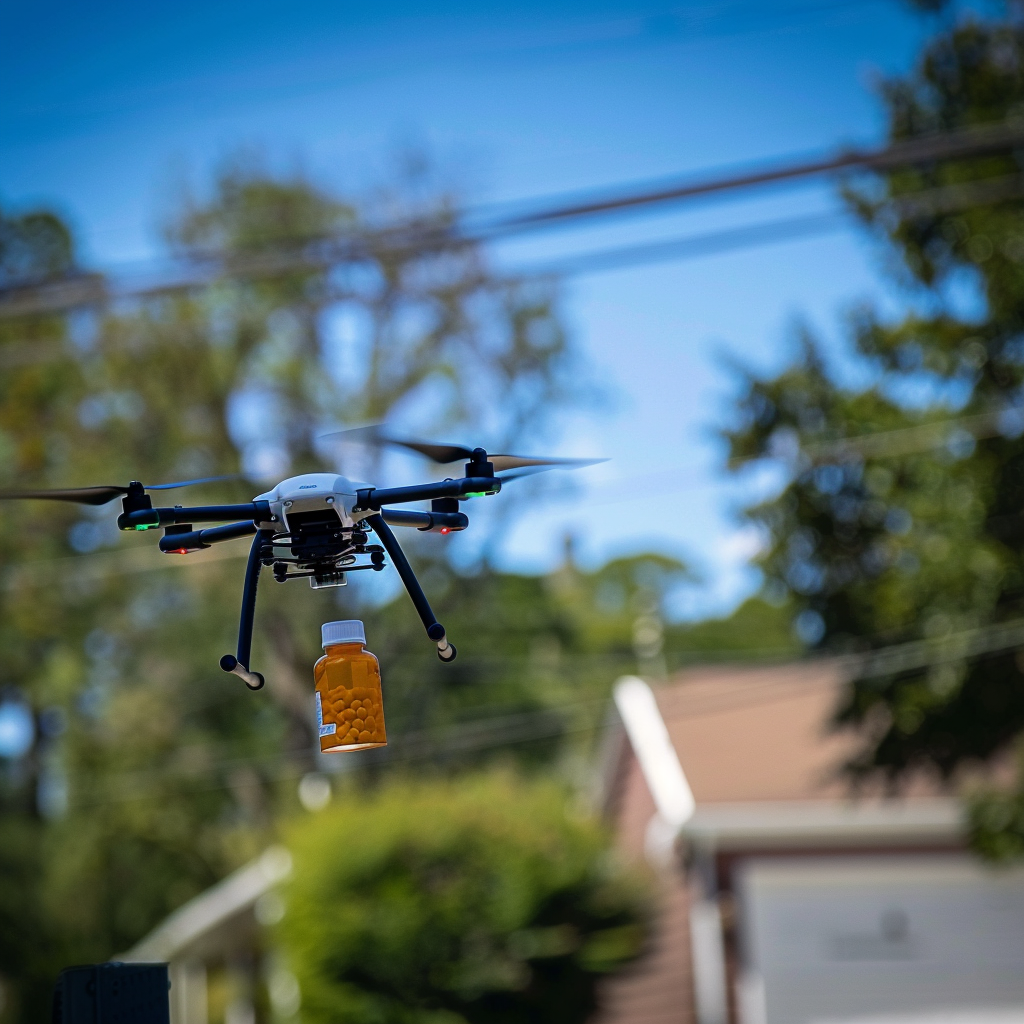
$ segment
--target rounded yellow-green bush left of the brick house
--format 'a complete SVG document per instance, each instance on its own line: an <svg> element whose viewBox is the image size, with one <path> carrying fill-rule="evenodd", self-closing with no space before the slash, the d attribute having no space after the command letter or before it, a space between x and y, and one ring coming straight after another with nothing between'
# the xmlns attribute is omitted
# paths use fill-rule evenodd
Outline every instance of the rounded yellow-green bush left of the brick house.
<svg viewBox="0 0 1024 1024"><path fill-rule="evenodd" d="M391 784L290 845L280 937L305 1024L582 1022L643 944L643 880L550 783Z"/></svg>

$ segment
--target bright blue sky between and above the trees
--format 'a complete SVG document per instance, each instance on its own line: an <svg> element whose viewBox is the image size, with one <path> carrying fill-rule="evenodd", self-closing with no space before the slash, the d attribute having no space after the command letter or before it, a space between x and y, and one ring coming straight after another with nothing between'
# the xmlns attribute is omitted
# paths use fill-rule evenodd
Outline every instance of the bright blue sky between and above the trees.
<svg viewBox="0 0 1024 1024"><path fill-rule="evenodd" d="M240 147L362 188L397 146L429 147L479 203L596 188L881 138L874 88L928 25L897 0L266 3L8 2L0 12L0 203L47 205L87 262L160 252L168 195ZM824 186L529 238L528 263L590 247L835 208ZM753 586L753 539L710 428L727 410L721 353L764 370L811 324L896 308L881 253L852 226L700 260L573 278L565 310L613 406L571 418L561 450L611 462L526 515L508 566L541 570L572 531L582 557L653 549L703 569L687 615ZM668 470L672 472L668 472ZM641 489L642 485L642 489Z"/></svg>

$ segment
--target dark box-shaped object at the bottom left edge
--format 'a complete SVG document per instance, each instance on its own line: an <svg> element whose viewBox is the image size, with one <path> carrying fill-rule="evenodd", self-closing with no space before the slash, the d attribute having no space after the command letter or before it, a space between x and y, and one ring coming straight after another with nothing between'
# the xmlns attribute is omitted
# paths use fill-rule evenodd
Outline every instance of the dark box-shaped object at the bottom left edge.
<svg viewBox="0 0 1024 1024"><path fill-rule="evenodd" d="M60 972L52 1024L170 1024L166 964L89 964Z"/></svg>

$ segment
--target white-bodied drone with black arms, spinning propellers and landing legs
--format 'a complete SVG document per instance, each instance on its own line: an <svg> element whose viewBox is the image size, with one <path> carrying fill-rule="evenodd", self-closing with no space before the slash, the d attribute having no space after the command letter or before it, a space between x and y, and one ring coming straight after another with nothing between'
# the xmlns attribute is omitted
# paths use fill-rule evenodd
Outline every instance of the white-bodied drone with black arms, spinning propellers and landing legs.
<svg viewBox="0 0 1024 1024"><path fill-rule="evenodd" d="M503 484L518 477L549 469L579 469L605 461L488 455L482 447L390 437L376 427L342 430L322 440L404 447L439 465L465 461L465 467L459 477L402 487L376 487L334 473L303 473L282 480L251 502L239 505L154 508L147 494L210 483L225 477L148 486L132 480L127 486L7 490L0 492L0 500L45 500L100 506L121 498L118 528L125 531L163 529L159 546L166 554L188 555L214 544L251 537L242 588L238 646L234 654L225 654L220 659L220 667L242 679L249 689L258 690L266 680L261 673L252 670L250 658L256 590L262 568L269 568L278 583L307 579L310 587L321 590L343 586L349 572L380 571L390 558L427 637L437 646L437 656L451 664L457 654L455 644L447 639L444 627L431 610L391 526L412 527L421 532L459 532L469 525L469 516L460 511L460 502L497 495ZM429 512L390 507L427 501L430 502ZM196 529L196 523L224 525ZM379 544L369 543L371 534Z"/></svg>

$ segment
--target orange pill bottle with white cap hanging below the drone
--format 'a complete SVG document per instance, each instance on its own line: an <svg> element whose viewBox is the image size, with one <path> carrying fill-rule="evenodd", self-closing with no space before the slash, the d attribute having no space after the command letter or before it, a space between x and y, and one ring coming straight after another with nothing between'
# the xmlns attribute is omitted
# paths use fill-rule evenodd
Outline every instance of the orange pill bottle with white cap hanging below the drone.
<svg viewBox="0 0 1024 1024"><path fill-rule="evenodd" d="M325 623L324 656L313 666L316 725L325 754L385 746L381 670L358 618Z"/></svg>

